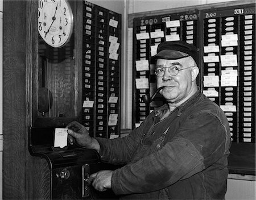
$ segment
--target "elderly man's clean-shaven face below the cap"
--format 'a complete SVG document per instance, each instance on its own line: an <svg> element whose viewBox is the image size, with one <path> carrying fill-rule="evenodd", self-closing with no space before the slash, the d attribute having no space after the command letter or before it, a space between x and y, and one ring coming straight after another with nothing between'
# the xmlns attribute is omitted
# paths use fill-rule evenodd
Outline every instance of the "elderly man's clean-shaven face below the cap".
<svg viewBox="0 0 256 200"><path fill-rule="evenodd" d="M168 68L172 65L175 65L177 69L188 69L180 70L176 76L172 76L168 72ZM163 68L164 74L162 77L156 76L156 85L157 87L166 86L160 91L160 94L170 103L183 103L183 100L186 101L187 97L190 97L192 91L195 90L195 81L198 74L198 71L196 70L196 73L192 67L196 66L192 57L189 56L176 60L158 59L156 61L156 68L158 66Z"/></svg>

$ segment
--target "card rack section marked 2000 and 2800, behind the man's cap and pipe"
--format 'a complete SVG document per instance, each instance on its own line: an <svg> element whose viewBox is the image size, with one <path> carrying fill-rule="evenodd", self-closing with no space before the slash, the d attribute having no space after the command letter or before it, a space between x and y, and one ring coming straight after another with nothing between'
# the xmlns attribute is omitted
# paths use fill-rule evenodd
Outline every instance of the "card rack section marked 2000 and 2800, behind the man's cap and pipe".
<svg viewBox="0 0 256 200"><path fill-rule="evenodd" d="M197 26L199 12L186 12L165 15L145 16L134 19L134 95L133 126L137 127L154 110L163 105L164 99L158 94L155 101L144 103L143 95L152 96L156 90L154 74L155 62L151 57L156 54L158 44L163 41L187 41L198 47Z"/></svg>

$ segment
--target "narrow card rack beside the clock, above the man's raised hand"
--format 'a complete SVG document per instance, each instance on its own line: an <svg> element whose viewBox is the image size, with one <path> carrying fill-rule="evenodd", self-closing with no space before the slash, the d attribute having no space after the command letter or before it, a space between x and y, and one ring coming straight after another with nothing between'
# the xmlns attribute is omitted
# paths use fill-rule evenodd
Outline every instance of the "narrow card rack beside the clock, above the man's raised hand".
<svg viewBox="0 0 256 200"><path fill-rule="evenodd" d="M91 136L120 132L121 14L84 1L82 124Z"/></svg>

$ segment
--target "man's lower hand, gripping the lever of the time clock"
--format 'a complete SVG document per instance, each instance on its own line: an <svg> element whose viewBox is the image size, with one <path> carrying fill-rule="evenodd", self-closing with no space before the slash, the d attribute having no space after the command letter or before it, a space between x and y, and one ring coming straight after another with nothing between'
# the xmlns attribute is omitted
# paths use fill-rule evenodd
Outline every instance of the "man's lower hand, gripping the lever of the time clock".
<svg viewBox="0 0 256 200"><path fill-rule="evenodd" d="M112 188L112 174L112 170L102 170L91 174L88 180L88 185L92 184L92 186L98 191L106 191L106 189Z"/></svg>

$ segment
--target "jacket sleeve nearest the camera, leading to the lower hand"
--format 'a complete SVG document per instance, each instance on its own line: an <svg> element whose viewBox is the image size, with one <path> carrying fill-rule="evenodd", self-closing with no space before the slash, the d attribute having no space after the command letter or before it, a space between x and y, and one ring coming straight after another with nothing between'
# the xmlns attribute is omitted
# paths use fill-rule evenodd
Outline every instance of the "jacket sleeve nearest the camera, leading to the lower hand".
<svg viewBox="0 0 256 200"><path fill-rule="evenodd" d="M170 128L171 130L171 128ZM224 155L226 131L216 116L188 116L162 149L114 171L115 194L146 193L188 178Z"/></svg>

